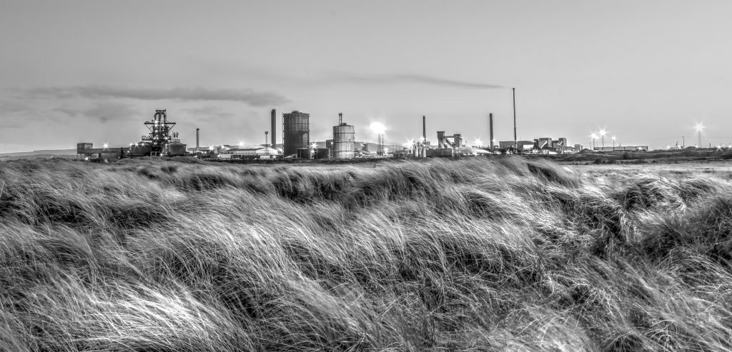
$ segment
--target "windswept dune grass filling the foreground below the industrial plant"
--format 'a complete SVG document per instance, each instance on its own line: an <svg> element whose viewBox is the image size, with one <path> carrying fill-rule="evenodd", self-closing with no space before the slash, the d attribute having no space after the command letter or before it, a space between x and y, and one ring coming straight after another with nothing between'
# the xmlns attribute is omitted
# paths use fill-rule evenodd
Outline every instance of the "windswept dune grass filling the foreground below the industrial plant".
<svg viewBox="0 0 732 352"><path fill-rule="evenodd" d="M34 160L0 185L0 350L732 351L714 176Z"/></svg>

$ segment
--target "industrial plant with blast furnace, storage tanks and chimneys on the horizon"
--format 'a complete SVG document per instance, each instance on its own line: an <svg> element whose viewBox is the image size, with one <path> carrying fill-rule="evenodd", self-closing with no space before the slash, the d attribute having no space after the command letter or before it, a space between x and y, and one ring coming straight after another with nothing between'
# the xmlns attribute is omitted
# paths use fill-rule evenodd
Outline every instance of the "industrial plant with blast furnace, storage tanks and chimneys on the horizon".
<svg viewBox="0 0 732 352"><path fill-rule="evenodd" d="M176 123L168 120L165 110L156 110L152 119L144 121L147 135L141 141L124 147L94 148L93 143L77 144L78 157L85 160L117 160L132 157L197 157L207 160L352 160L363 158L422 158L422 157L467 157L482 154L568 154L583 151L579 144L570 145L567 138L541 137L532 140L496 141L493 138L493 113L488 114L490 142L483 146L477 140L466 143L463 134L455 131L439 130L436 139L427 136L427 116L422 116L422 135L418 140L403 144L386 145L384 126L372 130L378 134L378 141L371 143L356 140L356 126L343 121L343 113L338 113L337 124L333 126L332 138L326 141L311 141L310 114L291 111L282 114L282 143L278 144L277 111L270 111L271 124L264 132L264 144L256 146L218 144L200 146L200 128L195 129L195 147L187 148L178 132L173 132ZM269 140L271 138L271 141ZM614 140L613 140L614 143ZM638 150L644 146L614 146L612 149L594 147L595 151ZM647 149L647 147L646 147ZM584 149L587 151L587 149Z"/></svg>

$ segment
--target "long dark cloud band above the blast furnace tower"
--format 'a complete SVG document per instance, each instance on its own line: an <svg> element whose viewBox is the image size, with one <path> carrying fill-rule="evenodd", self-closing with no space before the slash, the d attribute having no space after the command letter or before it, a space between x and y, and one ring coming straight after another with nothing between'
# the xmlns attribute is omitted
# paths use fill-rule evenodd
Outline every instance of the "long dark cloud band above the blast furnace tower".
<svg viewBox="0 0 732 352"><path fill-rule="evenodd" d="M18 91L23 97L33 98L72 98L85 97L126 98L138 100L180 100L180 101L231 101L244 102L252 106L283 105L288 100L280 94L258 92L252 89L208 89L192 88L130 88L113 86L51 86L37 87Z"/></svg>

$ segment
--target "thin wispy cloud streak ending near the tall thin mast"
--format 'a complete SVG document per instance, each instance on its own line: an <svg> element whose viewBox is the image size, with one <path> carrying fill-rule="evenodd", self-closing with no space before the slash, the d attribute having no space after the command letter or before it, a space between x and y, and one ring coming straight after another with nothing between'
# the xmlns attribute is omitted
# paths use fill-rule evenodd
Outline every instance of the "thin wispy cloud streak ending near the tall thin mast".
<svg viewBox="0 0 732 352"><path fill-rule="evenodd" d="M358 83L358 84L399 84L422 83L434 86L452 86L471 89L498 89L504 88L496 84L469 82L466 80L452 80L419 74L391 74L391 75L353 75L350 73L335 72L326 75L327 82Z"/></svg>

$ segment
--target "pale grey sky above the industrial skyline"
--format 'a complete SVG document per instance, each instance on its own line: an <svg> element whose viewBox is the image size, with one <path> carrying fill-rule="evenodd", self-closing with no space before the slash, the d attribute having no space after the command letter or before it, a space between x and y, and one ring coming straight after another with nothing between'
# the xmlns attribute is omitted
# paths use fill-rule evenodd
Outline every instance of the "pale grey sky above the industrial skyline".
<svg viewBox="0 0 732 352"><path fill-rule="evenodd" d="M732 143L732 1L0 2L0 152L264 143L271 109L356 140ZM281 130L277 132L281 141ZM684 136L682 138L682 136ZM601 141L596 141L600 146Z"/></svg>

